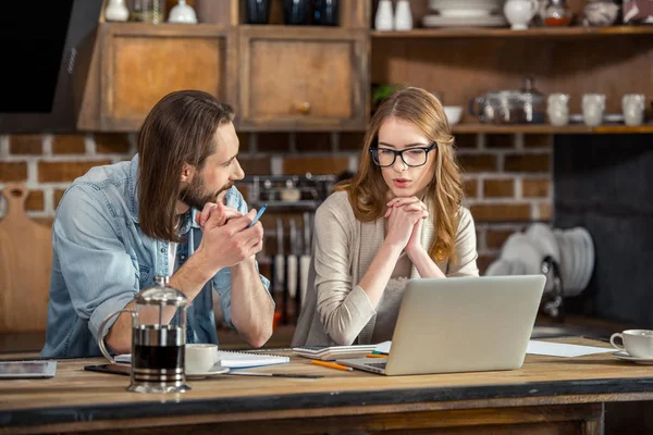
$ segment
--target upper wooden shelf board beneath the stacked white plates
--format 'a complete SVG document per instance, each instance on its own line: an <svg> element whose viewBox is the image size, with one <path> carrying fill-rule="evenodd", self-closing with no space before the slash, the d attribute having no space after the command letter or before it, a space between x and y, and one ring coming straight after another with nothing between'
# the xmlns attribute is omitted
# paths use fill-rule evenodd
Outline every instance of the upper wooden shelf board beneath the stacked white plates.
<svg viewBox="0 0 653 435"><path fill-rule="evenodd" d="M653 26L609 26L609 27L535 27L527 30L512 30L505 27L469 28L416 28L407 32L372 30L372 38L567 38L606 36L651 36Z"/></svg>

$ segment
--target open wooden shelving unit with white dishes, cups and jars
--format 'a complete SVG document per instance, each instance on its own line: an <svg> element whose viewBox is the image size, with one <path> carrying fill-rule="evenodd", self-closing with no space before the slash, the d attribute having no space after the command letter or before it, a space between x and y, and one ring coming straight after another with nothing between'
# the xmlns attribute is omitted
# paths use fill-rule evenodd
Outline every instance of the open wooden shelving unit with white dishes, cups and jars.
<svg viewBox="0 0 653 435"><path fill-rule="evenodd" d="M638 1L373 0L371 83L431 90L460 134L653 133Z"/></svg>

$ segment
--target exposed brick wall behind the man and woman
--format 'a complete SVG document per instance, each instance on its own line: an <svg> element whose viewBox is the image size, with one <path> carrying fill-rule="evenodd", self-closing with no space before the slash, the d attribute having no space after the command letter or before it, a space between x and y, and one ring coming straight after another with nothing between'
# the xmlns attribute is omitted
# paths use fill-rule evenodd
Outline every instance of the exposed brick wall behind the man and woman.
<svg viewBox="0 0 653 435"><path fill-rule="evenodd" d="M241 134L247 174L355 171L359 133ZM466 206L477 223L484 270L508 235L551 219L551 146L546 135L457 135ZM65 187L89 167L130 159L134 134L0 136L0 188L25 183L27 214L50 224ZM0 216L5 203L0 203Z"/></svg>

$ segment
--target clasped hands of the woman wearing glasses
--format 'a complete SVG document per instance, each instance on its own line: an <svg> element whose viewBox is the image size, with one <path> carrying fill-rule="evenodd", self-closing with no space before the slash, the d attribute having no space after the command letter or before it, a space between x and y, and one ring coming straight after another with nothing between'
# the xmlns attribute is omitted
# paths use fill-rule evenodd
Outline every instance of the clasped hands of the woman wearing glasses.
<svg viewBox="0 0 653 435"><path fill-rule="evenodd" d="M427 206L416 197L392 199L385 212L389 219L385 243L399 249L406 248L406 253L412 258L412 253L423 250L420 244L421 221L428 215Z"/></svg>

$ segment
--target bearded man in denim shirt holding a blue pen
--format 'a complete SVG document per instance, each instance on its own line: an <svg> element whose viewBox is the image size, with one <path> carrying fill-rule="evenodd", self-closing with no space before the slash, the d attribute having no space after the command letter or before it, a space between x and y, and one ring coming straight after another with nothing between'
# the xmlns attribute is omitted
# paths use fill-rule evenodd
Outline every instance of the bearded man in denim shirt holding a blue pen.
<svg viewBox="0 0 653 435"><path fill-rule="evenodd" d="M234 111L195 90L163 97L130 162L91 169L66 189L52 226L52 275L44 357L100 355L98 328L134 295L170 276L188 308L188 340L218 343L212 288L226 323L254 347L272 333L274 303L258 273L260 223L233 187L244 176ZM128 312L104 339L132 344Z"/></svg>

